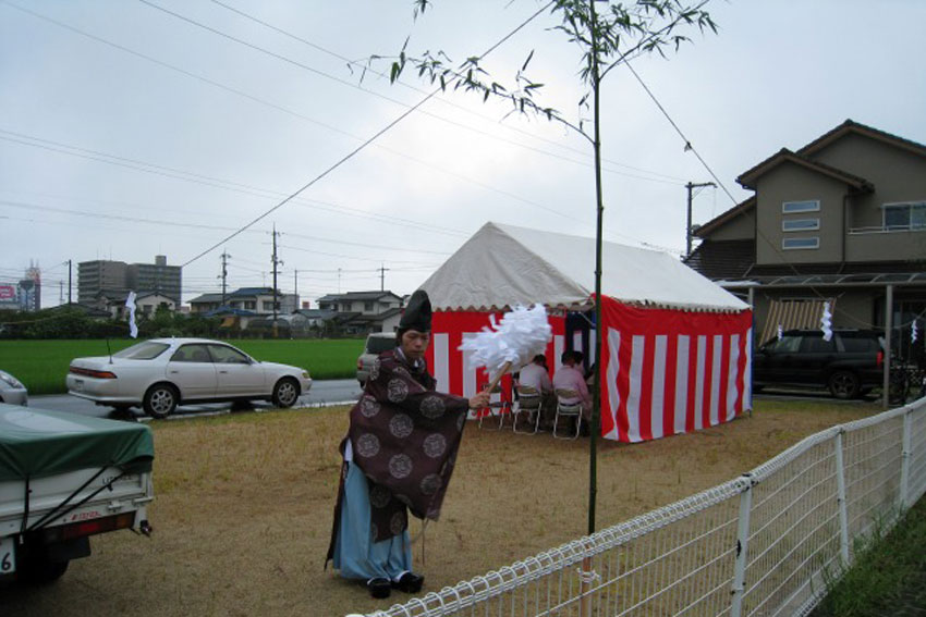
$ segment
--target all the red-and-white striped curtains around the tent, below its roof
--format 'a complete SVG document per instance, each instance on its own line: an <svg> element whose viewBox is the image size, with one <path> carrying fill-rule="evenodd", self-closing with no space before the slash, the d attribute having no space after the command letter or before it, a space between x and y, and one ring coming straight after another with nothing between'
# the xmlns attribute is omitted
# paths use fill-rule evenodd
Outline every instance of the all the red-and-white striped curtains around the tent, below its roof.
<svg viewBox="0 0 926 617"><path fill-rule="evenodd" d="M732 420L750 408L752 313L641 309L609 297L601 305L601 435L639 442ZM501 318L500 312L496 318ZM550 377L568 348L565 319L550 317ZM432 316L428 366L440 392L472 396L488 383L468 368L460 344L489 324L487 312L438 311ZM586 353L590 349L586 350ZM511 400L511 377L495 400Z"/></svg>

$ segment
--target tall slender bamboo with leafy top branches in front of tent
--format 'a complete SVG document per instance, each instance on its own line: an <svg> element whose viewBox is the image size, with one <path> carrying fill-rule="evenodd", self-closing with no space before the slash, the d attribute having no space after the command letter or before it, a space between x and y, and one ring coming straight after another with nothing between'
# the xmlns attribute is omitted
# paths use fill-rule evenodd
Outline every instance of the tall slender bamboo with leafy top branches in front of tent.
<svg viewBox="0 0 926 617"><path fill-rule="evenodd" d="M578 101L580 108L593 112L592 133L585 128L583 120L569 120L556 109L544 107L537 102L536 95L543 84L527 77L526 71L534 55L532 51L523 65L515 73L514 85L505 87L492 79L480 62L491 49L482 54L464 60L459 66L453 66L450 58L442 51L431 53L425 51L421 55L409 55L405 40L398 59L392 63L390 79L394 83L411 65L418 76L428 78L431 84L439 85L440 90L458 90L475 92L488 100L490 97L508 100L512 104L512 113L535 114L568 126L585 137L595 156L595 195L597 212L596 256L595 256L595 297L601 296L601 230L604 221L604 195L601 188L601 138L599 113L599 86L601 79L616 66L628 63L641 54L657 52L665 55L667 46L675 50L691 39L682 29L710 30L716 33L717 25L710 14L704 10L708 0L686 4L682 0L635 0L626 4L612 3L605 0L607 9L600 14L595 8L596 1L601 0L552 0L536 14L549 10L550 14L560 20L556 29L562 32L568 39L575 44L582 53L582 71L580 77L588 88ZM415 18L423 15L432 0L414 0ZM533 17L532 17L533 18ZM595 322L601 323L601 304L595 303ZM595 357L601 357L601 329L595 329ZM595 386L592 412L592 436L589 443L589 498L588 498L588 533L595 531L595 503L597 496L597 433L600 432L600 373L601 363L595 362Z"/></svg>

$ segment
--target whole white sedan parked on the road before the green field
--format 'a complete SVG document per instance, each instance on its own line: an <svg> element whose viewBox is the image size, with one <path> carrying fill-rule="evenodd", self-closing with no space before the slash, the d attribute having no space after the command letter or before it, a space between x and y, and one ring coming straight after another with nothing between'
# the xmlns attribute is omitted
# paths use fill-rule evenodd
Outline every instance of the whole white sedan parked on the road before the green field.
<svg viewBox="0 0 926 617"><path fill-rule="evenodd" d="M184 403L270 400L291 407L312 387L308 371L255 360L206 338L151 338L112 356L75 358L68 392L117 409L166 418Z"/></svg>

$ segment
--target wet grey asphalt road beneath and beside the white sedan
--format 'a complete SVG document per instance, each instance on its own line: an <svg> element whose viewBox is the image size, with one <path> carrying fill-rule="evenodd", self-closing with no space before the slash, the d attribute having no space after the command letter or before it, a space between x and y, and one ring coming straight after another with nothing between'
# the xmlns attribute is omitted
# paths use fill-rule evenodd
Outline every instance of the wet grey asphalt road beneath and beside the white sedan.
<svg viewBox="0 0 926 617"><path fill-rule="evenodd" d="M298 403L296 403L294 408L325 407L328 405L353 403L360 398L360 396L361 387L355 379L314 381L312 383L312 390L300 397ZM92 400L77 398L70 394L29 396L29 407L37 409L50 409L52 411L65 411L69 414L80 414L82 416L93 416L96 418L124 418L124 416L115 414L111 407L98 406ZM255 410L260 410L271 409L273 406L269 403L255 400L251 407ZM239 409L235 408L235 410ZM136 418L147 418L141 409L133 407L131 411ZM176 408L171 418L198 418L202 416L230 414L231 411L231 403L183 405Z"/></svg>

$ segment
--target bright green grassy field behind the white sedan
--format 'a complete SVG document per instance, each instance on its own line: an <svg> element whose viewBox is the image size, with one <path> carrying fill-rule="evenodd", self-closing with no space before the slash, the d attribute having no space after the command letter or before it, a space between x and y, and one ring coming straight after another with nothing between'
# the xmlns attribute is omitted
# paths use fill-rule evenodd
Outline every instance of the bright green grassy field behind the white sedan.
<svg viewBox="0 0 926 617"><path fill-rule="evenodd" d="M115 353L135 343L112 338L109 348ZM269 360L308 369L313 379L354 377L357 356L363 351L362 338L305 340L235 340L235 347L258 360ZM29 394L66 392L64 375L73 358L107 356L105 340L77 341L0 341L0 369L22 381Z"/></svg>

